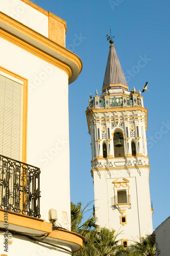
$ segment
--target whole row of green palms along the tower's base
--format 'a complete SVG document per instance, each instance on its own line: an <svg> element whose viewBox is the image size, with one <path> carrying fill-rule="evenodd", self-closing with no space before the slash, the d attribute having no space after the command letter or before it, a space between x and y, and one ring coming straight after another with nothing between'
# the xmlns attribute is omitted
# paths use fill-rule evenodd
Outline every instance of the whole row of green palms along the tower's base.
<svg viewBox="0 0 170 256"><path fill-rule="evenodd" d="M93 214L82 223L84 214L88 211L87 207L91 202L87 203L84 208L82 204L71 203L71 231L81 234L85 240L83 249L75 252L77 256L155 256L155 243L148 238L140 238L140 242L135 243L128 248L118 245L115 230L107 228L99 228L96 218ZM89 209L90 210L90 209Z"/></svg>

